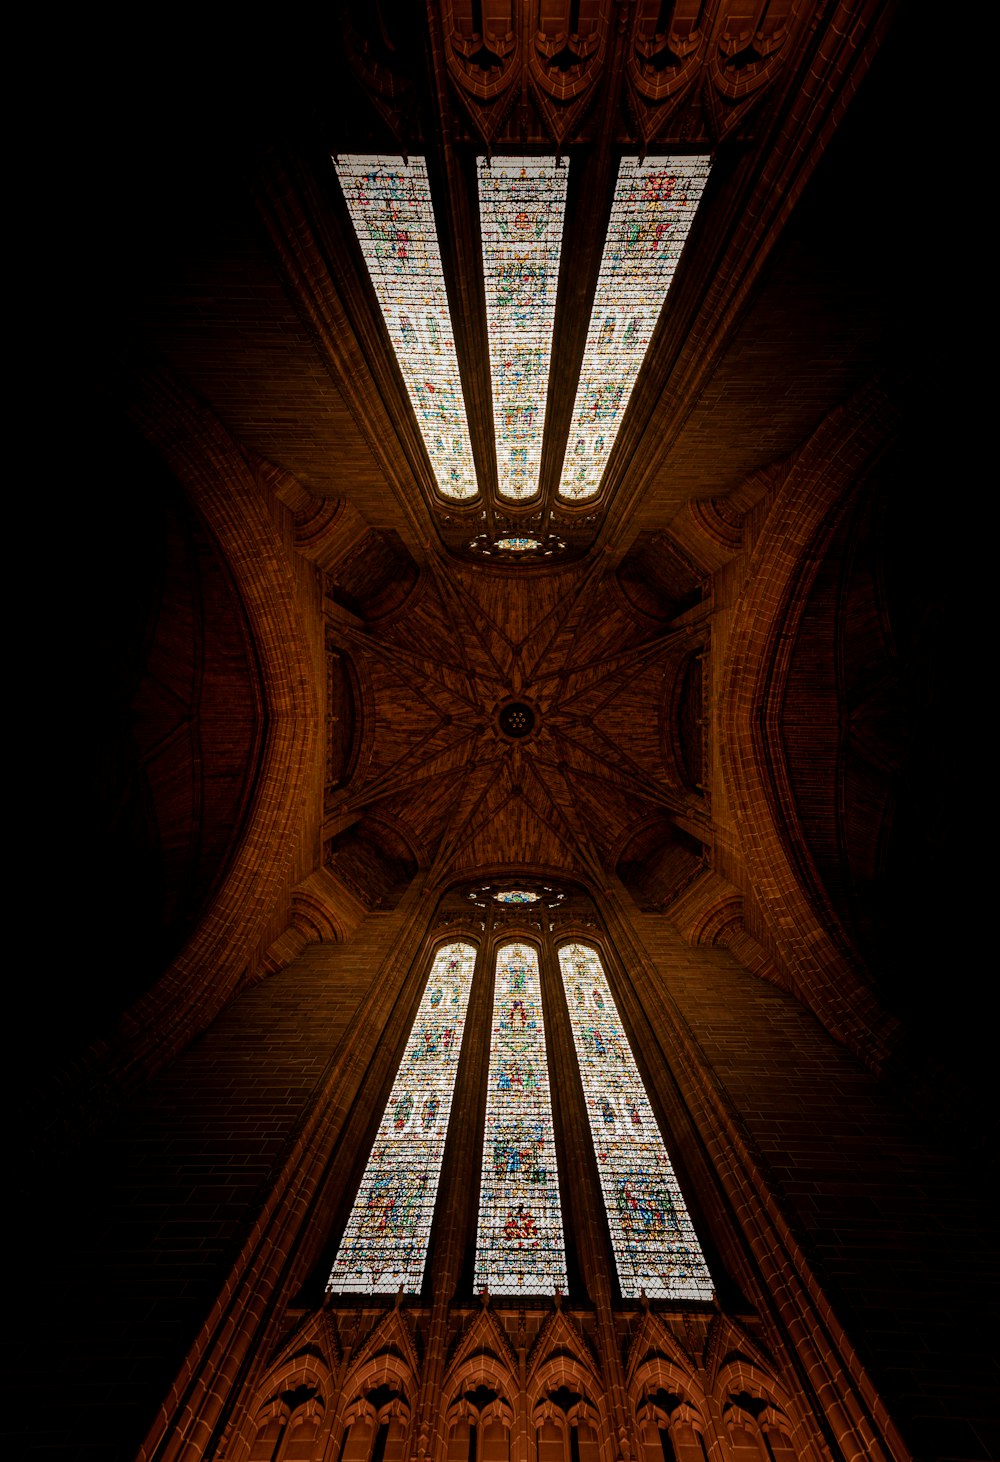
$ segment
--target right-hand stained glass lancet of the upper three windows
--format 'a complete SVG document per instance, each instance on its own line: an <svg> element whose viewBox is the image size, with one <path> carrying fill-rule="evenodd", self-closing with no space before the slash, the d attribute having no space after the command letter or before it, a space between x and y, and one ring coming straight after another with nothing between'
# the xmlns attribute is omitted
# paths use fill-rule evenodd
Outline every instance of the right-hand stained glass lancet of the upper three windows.
<svg viewBox="0 0 1000 1462"><path fill-rule="evenodd" d="M709 174L708 156L623 158L566 444L561 497L594 497Z"/></svg>

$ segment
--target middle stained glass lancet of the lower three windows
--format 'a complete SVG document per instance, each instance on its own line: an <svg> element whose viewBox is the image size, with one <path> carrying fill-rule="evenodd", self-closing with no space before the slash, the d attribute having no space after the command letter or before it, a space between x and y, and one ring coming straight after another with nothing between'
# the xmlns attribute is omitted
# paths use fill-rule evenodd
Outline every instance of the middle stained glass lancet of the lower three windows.
<svg viewBox="0 0 1000 1462"><path fill-rule="evenodd" d="M538 955L497 952L475 1287L493 1294L566 1289Z"/></svg>

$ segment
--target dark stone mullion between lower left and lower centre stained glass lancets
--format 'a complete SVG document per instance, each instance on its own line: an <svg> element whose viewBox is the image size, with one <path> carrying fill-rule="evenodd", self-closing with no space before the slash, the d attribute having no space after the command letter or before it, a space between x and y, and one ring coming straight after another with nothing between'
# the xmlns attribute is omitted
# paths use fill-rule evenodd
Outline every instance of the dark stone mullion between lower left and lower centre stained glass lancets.
<svg viewBox="0 0 1000 1462"><path fill-rule="evenodd" d="M462 937L461 931L456 937ZM443 1417L447 1398L442 1395L447 1355L450 1304L462 1278L469 1234L475 1231L478 1173L482 1149L485 1101L484 1073L490 1061L490 1013L493 1010L493 955L480 943L472 994L465 1018L465 1039L459 1076L452 1098L452 1126L444 1148L442 1183L434 1209L434 1231L427 1256L430 1325L417 1404L417 1425L411 1428L412 1458L444 1458L447 1436Z"/></svg>

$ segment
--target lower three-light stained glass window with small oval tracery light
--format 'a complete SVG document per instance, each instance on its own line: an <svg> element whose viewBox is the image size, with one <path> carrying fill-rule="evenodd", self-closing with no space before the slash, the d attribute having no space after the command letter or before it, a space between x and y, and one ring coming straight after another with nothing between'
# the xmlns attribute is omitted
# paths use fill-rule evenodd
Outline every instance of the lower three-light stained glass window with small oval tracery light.
<svg viewBox="0 0 1000 1462"><path fill-rule="evenodd" d="M712 1278L601 955L579 939L558 947L551 942L550 921L566 895L541 885L487 885L458 898L484 909L482 927L501 940L494 946L484 1126L475 1135L466 1127L459 1139L481 1152L474 1288L499 1297L569 1289L545 980L560 1069L577 1067L580 1076L575 1091L570 1079L560 1120L582 1123L586 1111L623 1298L645 1292L711 1301ZM539 939L519 936L519 925L538 930ZM475 962L471 943L449 943L434 956L333 1263L333 1292L386 1294L402 1285L417 1294L423 1287ZM487 1000L484 990L477 1019L485 1019ZM484 1037L474 1042L482 1054ZM462 1079L466 1094L482 1095L481 1067ZM465 1121L474 1120L474 1107L463 1099Z"/></svg>

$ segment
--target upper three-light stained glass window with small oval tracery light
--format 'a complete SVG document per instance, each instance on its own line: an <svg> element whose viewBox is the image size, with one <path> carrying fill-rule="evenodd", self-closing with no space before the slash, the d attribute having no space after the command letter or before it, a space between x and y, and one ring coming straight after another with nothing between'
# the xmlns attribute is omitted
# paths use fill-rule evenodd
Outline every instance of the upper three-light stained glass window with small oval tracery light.
<svg viewBox="0 0 1000 1462"><path fill-rule="evenodd" d="M434 480L446 499L468 501L480 482L425 159L333 161ZM563 450L564 504L601 490L709 168L708 155L620 162ZM569 162L481 156L477 180L497 494L515 504L541 490ZM487 539L468 547L529 556L523 561L566 547L518 532L516 519Z"/></svg>

